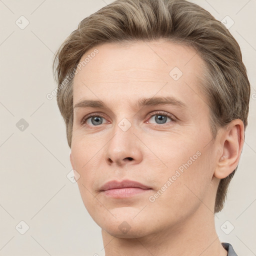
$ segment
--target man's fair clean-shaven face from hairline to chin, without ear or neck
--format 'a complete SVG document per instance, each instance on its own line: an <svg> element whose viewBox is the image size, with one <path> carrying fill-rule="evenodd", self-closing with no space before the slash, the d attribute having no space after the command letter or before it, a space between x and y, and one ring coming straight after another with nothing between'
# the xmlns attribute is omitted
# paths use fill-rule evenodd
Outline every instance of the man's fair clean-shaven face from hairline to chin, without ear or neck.
<svg viewBox="0 0 256 256"><path fill-rule="evenodd" d="M203 61L187 46L160 40L96 48L73 83L70 161L83 203L114 236L174 228L202 201L214 204L216 148L199 86ZM144 187L104 186L123 180Z"/></svg>

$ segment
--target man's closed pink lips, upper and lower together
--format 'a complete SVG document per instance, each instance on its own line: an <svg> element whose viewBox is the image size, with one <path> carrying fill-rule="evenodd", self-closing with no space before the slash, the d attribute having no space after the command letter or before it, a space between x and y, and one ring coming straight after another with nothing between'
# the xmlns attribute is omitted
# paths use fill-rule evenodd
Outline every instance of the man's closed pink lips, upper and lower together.
<svg viewBox="0 0 256 256"><path fill-rule="evenodd" d="M151 188L134 180L111 180L100 187L100 192L113 198L124 198L150 191Z"/></svg>

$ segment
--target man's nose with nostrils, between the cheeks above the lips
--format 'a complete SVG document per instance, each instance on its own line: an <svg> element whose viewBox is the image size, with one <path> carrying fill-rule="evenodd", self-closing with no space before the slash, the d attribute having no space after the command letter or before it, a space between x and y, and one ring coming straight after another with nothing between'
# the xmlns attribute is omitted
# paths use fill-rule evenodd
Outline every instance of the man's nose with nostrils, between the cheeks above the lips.
<svg viewBox="0 0 256 256"><path fill-rule="evenodd" d="M115 125L114 134L106 145L105 159L109 165L122 166L141 162L142 145L133 132L132 125L126 131L122 130L118 124Z"/></svg>

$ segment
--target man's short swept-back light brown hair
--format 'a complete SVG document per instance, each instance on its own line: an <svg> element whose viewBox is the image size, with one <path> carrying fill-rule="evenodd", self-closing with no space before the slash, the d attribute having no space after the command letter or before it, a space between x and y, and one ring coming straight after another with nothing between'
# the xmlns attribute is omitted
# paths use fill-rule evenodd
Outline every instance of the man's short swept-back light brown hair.
<svg viewBox="0 0 256 256"><path fill-rule="evenodd" d="M233 119L247 126L250 85L238 43L208 11L186 0L116 0L84 18L62 43L53 62L57 104L71 147L72 82L82 55L105 42L166 39L193 47L206 64L203 92L210 106L213 138ZM237 168L237 167L236 167ZM222 209L236 170L220 180L214 211Z"/></svg>

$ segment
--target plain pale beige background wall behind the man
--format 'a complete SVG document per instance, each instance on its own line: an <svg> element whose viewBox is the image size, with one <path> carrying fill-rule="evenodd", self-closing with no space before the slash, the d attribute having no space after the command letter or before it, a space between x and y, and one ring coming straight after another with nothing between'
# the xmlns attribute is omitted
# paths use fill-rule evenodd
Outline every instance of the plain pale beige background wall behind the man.
<svg viewBox="0 0 256 256"><path fill-rule="evenodd" d="M81 19L110 2L0 0L0 255L104 255L101 230L83 206L76 183L66 177L71 165L65 126L55 97L48 100L46 94L56 86L53 53ZM241 46L252 85L238 171L225 207L215 217L220 240L230 242L238 255L252 256L256 255L256 0L193 2L219 20L228 15L234 21L229 30ZM21 29L26 20L29 24ZM27 231L20 221L29 226Z"/></svg>

